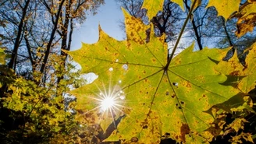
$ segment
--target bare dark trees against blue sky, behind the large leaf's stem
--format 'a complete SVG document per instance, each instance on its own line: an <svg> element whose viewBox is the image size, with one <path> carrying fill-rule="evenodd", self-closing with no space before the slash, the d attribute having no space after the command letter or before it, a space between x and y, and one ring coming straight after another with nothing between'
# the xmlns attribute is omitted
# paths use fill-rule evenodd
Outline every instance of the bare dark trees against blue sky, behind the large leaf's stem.
<svg viewBox="0 0 256 144"><path fill-rule="evenodd" d="M140 19L143 18L144 23L148 23L147 19L144 18L146 17L147 9L141 9L143 1L117 2L130 15ZM177 34L180 32L180 26L182 26L184 18L186 18L190 10L191 2L189 0L184 0L183 2L185 12L180 9L179 5L165 1L162 11L158 12L153 19L150 19L150 22L155 26L155 34L161 36L162 33L165 33L166 41L169 42L170 47L175 43ZM222 16L217 16L218 12L215 8L206 8L207 4L208 1L203 0L201 5L194 9L193 16L190 18L190 22L183 34L183 40L195 40L196 47L199 50L203 49L203 47L234 46L236 42L239 47L247 47L252 44L251 41L254 41L254 33L247 33L244 37L238 39L235 34L236 19L225 20ZM140 13L140 15L137 13ZM244 40L248 40L248 43L241 42Z"/></svg>

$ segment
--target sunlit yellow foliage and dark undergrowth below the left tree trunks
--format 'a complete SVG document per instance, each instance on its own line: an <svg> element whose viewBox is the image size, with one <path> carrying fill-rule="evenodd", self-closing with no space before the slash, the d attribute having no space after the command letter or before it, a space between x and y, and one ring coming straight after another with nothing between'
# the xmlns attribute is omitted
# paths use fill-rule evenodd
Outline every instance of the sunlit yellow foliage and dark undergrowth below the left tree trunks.
<svg viewBox="0 0 256 144"><path fill-rule="evenodd" d="M58 61L60 56L52 56ZM41 73L34 73L34 80L16 76L14 72L1 65L1 79L3 88L7 88L1 97L0 140L2 143L62 143L79 142L81 131L80 123L73 121L73 109L63 94L69 87L77 87L84 82L77 79L80 72L71 72L73 65L62 68L62 61L53 62L56 75L64 75L56 85L55 75L48 78L45 86L38 84ZM50 72L48 72L50 74ZM76 83L74 83L76 81ZM67 101L68 100L68 101ZM91 133L87 137L93 137Z"/></svg>

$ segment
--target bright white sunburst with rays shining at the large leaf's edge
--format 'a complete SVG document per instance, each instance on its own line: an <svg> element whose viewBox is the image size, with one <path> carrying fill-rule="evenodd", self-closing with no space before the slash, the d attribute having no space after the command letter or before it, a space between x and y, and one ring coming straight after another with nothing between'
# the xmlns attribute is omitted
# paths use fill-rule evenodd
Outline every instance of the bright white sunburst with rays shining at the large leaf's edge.
<svg viewBox="0 0 256 144"><path fill-rule="evenodd" d="M115 85L112 85L115 83ZM84 114L93 114L98 124L101 124L101 128L108 128L110 121L115 126L119 122L116 122L119 118L124 118L129 114L130 108L126 107L126 94L121 87L123 85L122 79L117 79L115 82L109 80L107 83L101 82L95 84L98 90L94 90L88 98L91 98L92 107ZM92 117L91 117L92 118ZM107 125L106 125L107 124Z"/></svg>

